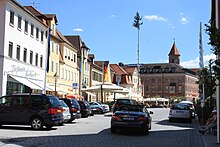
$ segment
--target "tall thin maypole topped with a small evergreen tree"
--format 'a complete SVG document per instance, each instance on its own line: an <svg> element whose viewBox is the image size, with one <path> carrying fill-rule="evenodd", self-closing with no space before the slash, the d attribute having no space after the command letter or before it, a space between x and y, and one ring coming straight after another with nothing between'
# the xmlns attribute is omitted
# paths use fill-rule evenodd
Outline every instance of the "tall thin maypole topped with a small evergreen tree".
<svg viewBox="0 0 220 147"><path fill-rule="evenodd" d="M140 26L143 24L141 21L142 17L137 12L134 16L134 23L133 26L138 29L138 50L137 50L137 70L138 70L138 94L139 94L139 79L140 79Z"/></svg>

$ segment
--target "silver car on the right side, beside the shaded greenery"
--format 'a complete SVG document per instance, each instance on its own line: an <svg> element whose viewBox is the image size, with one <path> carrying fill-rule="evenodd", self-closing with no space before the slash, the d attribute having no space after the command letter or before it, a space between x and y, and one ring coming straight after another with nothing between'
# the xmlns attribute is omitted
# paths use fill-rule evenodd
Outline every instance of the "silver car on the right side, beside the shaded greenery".
<svg viewBox="0 0 220 147"><path fill-rule="evenodd" d="M192 111L190 106L182 103L173 104L170 108L168 118L170 122L174 119L183 119L192 122Z"/></svg>

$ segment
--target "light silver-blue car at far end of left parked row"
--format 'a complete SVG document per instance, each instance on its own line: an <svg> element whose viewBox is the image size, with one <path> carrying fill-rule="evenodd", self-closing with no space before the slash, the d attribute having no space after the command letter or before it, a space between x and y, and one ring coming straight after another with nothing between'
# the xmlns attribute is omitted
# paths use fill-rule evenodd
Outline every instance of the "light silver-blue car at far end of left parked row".
<svg viewBox="0 0 220 147"><path fill-rule="evenodd" d="M94 113L106 113L109 111L109 106L107 104L101 104L99 102L90 102L90 107Z"/></svg>

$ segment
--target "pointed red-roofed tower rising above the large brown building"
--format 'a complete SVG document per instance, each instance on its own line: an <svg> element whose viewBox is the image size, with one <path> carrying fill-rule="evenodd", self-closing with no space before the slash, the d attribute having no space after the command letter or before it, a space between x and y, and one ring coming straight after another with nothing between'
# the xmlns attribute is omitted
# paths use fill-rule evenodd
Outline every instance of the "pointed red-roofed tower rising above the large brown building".
<svg viewBox="0 0 220 147"><path fill-rule="evenodd" d="M176 47L175 41L168 55L169 55L169 63L180 64L180 54Z"/></svg>

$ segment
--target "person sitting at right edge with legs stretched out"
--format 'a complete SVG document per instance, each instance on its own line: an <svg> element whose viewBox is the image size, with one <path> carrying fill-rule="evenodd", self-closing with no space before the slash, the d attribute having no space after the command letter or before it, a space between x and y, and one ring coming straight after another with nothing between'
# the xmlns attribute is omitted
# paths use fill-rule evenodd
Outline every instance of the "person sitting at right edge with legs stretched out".
<svg viewBox="0 0 220 147"><path fill-rule="evenodd" d="M210 129L215 128L217 126L217 111L213 110L211 117L207 120L206 125L204 128L199 130L199 133L204 135Z"/></svg>

